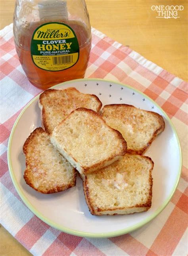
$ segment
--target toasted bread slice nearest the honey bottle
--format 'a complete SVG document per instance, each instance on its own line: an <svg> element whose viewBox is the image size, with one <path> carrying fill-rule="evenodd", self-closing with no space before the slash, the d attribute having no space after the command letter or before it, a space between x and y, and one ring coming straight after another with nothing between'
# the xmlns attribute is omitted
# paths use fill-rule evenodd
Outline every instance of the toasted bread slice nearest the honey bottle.
<svg viewBox="0 0 188 256"><path fill-rule="evenodd" d="M40 94L42 127L49 134L73 110L84 107L99 112L102 103L96 95L84 94L74 87L64 90L48 89Z"/></svg>

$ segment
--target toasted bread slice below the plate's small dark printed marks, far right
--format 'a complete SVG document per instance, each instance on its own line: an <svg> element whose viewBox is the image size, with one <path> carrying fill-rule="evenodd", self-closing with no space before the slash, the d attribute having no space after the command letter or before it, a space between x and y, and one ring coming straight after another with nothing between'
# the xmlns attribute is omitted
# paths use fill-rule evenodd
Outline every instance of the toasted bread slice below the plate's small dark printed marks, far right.
<svg viewBox="0 0 188 256"><path fill-rule="evenodd" d="M127 153L142 155L157 134L165 129L163 117L132 105L106 105L102 117L112 128L121 132L127 142Z"/></svg>

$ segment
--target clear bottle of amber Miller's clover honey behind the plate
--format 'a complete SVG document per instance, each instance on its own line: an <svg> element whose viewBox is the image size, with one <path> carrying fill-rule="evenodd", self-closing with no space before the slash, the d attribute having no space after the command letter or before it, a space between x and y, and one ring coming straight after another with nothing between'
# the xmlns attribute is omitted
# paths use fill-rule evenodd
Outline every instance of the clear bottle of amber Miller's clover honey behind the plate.
<svg viewBox="0 0 188 256"><path fill-rule="evenodd" d="M84 0L17 0L13 33L21 66L36 87L84 77L91 49Z"/></svg>

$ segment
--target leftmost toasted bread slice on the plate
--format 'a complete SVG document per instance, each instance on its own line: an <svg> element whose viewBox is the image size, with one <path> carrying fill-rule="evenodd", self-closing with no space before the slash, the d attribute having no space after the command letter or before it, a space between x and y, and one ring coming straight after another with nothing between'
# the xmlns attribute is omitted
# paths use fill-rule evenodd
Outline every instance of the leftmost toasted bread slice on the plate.
<svg viewBox="0 0 188 256"><path fill-rule="evenodd" d="M50 136L39 127L23 145L26 157L24 179L36 191L56 193L76 184L76 170L50 142Z"/></svg>

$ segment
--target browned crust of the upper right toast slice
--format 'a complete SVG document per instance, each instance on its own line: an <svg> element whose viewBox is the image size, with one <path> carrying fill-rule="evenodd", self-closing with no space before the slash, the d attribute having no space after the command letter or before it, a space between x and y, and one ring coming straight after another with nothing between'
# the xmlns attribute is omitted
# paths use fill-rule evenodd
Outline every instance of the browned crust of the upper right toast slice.
<svg viewBox="0 0 188 256"><path fill-rule="evenodd" d="M103 107L103 109L102 109L102 116L104 114L105 109L111 108L111 107L113 107L113 108L117 108L117 107L130 107L130 108L133 108L133 109L138 109L138 108L134 107L133 105L129 105L129 104L109 104L109 105L105 105ZM165 129L165 121L164 121L163 117L160 114L158 114L156 112L153 112L153 111L146 111L146 110L142 110L142 111L148 112L148 113L151 113L151 114L155 115L157 117L157 120L158 120L159 124L160 124L160 127L153 132L152 138L148 141L148 143L142 149L134 150L134 149L127 148L127 153L130 153L132 155L142 155L148 149L148 147L150 147L150 145L152 144L153 140L155 140L156 136L158 134L160 134L161 132L163 132L164 129Z"/></svg>

